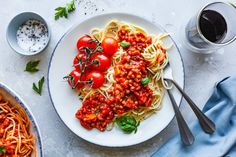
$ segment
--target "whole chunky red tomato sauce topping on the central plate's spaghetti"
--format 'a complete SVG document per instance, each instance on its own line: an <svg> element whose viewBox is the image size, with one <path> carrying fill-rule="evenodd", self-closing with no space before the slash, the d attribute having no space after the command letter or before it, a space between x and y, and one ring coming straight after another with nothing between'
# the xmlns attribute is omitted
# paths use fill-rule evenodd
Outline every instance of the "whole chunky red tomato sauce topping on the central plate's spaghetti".
<svg viewBox="0 0 236 157"><path fill-rule="evenodd" d="M97 128L104 131L115 114L122 115L141 106L148 107L153 100L152 90L141 83L147 77L149 64L141 52L152 43L151 37L142 33L129 34L125 29L119 30L118 37L119 42L125 40L131 46L125 49L127 53L114 67L116 82L108 92L110 97L106 99L101 94L89 97L76 113L81 125L88 130Z"/></svg>

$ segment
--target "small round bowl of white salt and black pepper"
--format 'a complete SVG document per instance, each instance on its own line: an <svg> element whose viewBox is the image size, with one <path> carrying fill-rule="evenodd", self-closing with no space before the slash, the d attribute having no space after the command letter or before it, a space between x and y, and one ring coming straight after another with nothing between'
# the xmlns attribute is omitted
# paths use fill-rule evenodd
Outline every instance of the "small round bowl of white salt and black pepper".
<svg viewBox="0 0 236 157"><path fill-rule="evenodd" d="M10 21L6 35L11 48L26 56L42 52L50 40L50 31L46 21L33 12L16 15Z"/></svg>

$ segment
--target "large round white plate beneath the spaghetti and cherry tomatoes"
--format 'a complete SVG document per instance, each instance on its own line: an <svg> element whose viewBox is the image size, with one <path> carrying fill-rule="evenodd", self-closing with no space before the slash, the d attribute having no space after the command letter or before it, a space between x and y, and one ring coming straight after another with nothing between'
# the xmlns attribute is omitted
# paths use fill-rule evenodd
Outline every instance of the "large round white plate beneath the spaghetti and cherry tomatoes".
<svg viewBox="0 0 236 157"><path fill-rule="evenodd" d="M124 134L117 127L112 131L100 132L96 129L88 131L84 129L79 120L75 118L76 111L80 108L81 102L75 92L71 90L67 82L63 81L73 68L72 61L77 53L77 39L88 34L94 27L103 28L105 24L113 19L126 21L143 27L148 33L158 34L163 32L160 26L129 14L111 13L87 19L70 29L58 42L51 57L48 71L48 87L54 107L62 121L81 138L102 146L123 147L144 142L161 132L173 119L174 111L167 96L163 99L163 108L145 121L142 121L136 134ZM167 44L174 43L171 38L166 40ZM169 50L170 63L173 70L173 77L181 87L184 86L183 63L174 45ZM181 96L177 91L173 91L176 102L180 104Z"/></svg>

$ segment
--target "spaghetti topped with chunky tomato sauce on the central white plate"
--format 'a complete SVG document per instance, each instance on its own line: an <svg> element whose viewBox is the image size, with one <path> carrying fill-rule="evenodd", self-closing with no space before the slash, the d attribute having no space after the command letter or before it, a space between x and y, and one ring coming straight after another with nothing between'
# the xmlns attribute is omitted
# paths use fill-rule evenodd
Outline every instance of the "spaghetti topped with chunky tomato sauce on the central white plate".
<svg viewBox="0 0 236 157"><path fill-rule="evenodd" d="M121 21L110 21L104 29L94 28L90 34L99 42L112 37L120 43L128 42L130 46L120 46L113 55L112 65L105 73L102 87L79 89L83 106L76 113L76 117L82 126L104 131L108 124L114 122L115 117L128 115L140 122L160 110L165 88L163 69L168 63L166 50L170 48L164 46L163 39L168 34L148 35L142 28ZM148 83L143 83L143 79L148 80ZM107 101L100 102L97 97ZM97 114L95 109L85 106L104 103L108 104L112 114L103 115L100 119L99 114L103 111L101 108L96 107ZM97 123L99 127L96 126Z"/></svg>

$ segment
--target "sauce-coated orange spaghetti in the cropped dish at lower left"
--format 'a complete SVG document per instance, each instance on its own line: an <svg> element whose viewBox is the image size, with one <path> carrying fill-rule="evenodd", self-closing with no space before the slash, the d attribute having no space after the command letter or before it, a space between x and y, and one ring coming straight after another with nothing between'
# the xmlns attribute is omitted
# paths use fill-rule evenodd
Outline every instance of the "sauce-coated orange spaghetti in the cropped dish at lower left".
<svg viewBox="0 0 236 157"><path fill-rule="evenodd" d="M30 125L22 107L11 105L0 95L0 157L31 157L35 137L30 134Z"/></svg>

